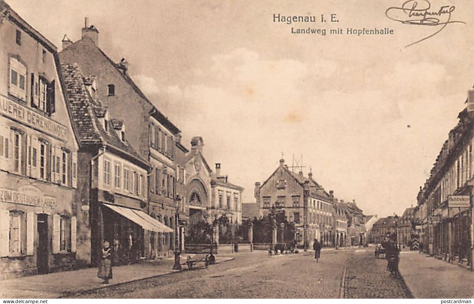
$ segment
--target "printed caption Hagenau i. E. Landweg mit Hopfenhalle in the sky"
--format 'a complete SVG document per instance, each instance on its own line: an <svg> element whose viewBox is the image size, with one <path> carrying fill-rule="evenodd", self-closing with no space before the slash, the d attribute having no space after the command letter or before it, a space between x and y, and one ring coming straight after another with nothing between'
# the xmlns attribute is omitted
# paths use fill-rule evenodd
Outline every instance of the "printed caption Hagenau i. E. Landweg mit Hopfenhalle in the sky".
<svg viewBox="0 0 474 304"><path fill-rule="evenodd" d="M296 27L293 24L311 24L311 23L326 23L330 22L336 24L339 22L337 14L329 14L328 17L325 15L314 16L314 15L282 15L278 13L273 14L274 23L285 23L292 25L292 34L313 34L326 36L327 29L322 28L311 28L309 27ZM394 31L390 28L331 28L329 29L329 35L354 35L354 36L365 36L365 35L393 35Z"/></svg>

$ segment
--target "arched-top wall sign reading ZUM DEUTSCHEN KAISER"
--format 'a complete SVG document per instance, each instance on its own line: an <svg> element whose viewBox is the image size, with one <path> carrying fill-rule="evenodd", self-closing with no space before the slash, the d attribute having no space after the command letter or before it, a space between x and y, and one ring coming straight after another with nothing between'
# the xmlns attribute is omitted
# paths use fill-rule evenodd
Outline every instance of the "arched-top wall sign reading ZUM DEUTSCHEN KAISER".
<svg viewBox="0 0 474 304"><path fill-rule="evenodd" d="M44 195L40 189L29 185L18 188L18 191L0 188L0 201L51 209L56 208L55 197Z"/></svg>

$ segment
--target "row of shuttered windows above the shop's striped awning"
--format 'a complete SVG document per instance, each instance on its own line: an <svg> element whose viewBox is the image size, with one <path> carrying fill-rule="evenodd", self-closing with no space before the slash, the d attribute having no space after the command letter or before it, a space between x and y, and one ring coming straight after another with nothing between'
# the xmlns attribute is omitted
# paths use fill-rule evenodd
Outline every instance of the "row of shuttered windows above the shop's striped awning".
<svg viewBox="0 0 474 304"><path fill-rule="evenodd" d="M123 168L123 170L122 170ZM117 190L123 190L126 193L134 195L145 195L146 184L143 182L144 176L131 170L130 168L118 163L114 163L113 169L113 187ZM103 184L107 187L112 186L111 175L112 167L109 159L103 162Z"/></svg>

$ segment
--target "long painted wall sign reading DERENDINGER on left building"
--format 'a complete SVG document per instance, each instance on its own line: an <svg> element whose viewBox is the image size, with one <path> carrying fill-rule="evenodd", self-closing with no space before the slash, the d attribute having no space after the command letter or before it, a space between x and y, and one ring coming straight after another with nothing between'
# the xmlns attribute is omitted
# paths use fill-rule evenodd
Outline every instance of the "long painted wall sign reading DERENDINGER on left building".
<svg viewBox="0 0 474 304"><path fill-rule="evenodd" d="M66 127L4 96L0 96L0 113L56 138L67 140Z"/></svg>

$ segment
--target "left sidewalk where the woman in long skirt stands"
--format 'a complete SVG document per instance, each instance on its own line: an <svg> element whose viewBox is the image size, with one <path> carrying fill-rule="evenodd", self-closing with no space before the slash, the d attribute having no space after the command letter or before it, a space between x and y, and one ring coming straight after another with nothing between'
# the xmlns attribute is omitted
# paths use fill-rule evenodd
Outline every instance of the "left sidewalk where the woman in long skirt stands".
<svg viewBox="0 0 474 304"><path fill-rule="evenodd" d="M245 254L216 255L216 263L233 260L234 257L239 255ZM186 257L187 254L181 255L181 263L185 262ZM182 270L173 270L173 264L174 258L163 258L161 261L144 261L137 264L113 267L113 278L108 285L101 284L102 280L97 277L97 267L49 273L46 275L23 276L0 281L0 298L52 299L149 277L163 276L188 268L184 265Z"/></svg>

